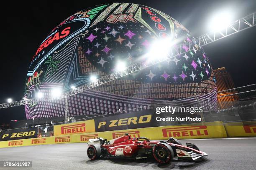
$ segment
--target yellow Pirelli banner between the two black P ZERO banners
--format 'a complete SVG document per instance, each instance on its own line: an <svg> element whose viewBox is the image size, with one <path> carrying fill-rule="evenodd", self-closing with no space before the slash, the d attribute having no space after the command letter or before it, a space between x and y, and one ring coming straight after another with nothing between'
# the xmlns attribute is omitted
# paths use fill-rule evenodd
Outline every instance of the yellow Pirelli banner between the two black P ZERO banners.
<svg viewBox="0 0 256 170"><path fill-rule="evenodd" d="M94 120L54 126L54 136L95 132Z"/></svg>

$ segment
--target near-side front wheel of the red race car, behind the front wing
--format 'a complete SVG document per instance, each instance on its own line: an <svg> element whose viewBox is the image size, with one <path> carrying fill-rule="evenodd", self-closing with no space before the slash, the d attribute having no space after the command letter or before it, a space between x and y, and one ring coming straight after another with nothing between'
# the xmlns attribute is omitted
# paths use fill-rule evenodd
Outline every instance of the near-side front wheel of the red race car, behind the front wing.
<svg viewBox="0 0 256 170"><path fill-rule="evenodd" d="M154 146L153 156L158 163L169 163L173 155L171 146L166 143L158 143Z"/></svg>

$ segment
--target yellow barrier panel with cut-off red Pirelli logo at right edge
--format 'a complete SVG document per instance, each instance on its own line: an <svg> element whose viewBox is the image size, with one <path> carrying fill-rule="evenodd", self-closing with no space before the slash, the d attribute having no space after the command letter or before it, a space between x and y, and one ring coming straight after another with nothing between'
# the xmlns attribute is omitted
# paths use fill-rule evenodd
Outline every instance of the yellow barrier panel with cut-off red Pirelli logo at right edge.
<svg viewBox="0 0 256 170"><path fill-rule="evenodd" d="M224 123L229 137L256 136L256 121Z"/></svg>

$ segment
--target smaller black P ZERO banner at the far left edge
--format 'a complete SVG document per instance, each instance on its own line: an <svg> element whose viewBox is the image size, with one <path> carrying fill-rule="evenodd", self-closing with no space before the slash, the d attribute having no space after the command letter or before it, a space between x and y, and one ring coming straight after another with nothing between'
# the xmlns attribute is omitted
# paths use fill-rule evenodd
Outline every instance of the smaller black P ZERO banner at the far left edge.
<svg viewBox="0 0 256 170"><path fill-rule="evenodd" d="M18 140L37 137L37 128L21 128L0 133L0 141Z"/></svg>

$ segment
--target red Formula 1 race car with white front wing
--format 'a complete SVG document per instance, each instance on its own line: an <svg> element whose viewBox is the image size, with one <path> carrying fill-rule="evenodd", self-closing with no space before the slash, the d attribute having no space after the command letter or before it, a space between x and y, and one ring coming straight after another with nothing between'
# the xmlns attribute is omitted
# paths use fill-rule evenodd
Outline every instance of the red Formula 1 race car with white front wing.
<svg viewBox="0 0 256 170"><path fill-rule="evenodd" d="M88 142L87 155L91 160L103 158L145 159L154 157L158 163L169 163L171 160L196 160L206 153L196 145L187 143L183 146L179 140L169 138L167 141L150 141L147 138L131 138L128 134L107 141L91 139Z"/></svg>

